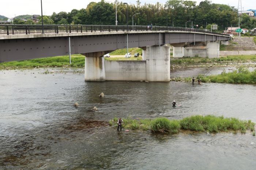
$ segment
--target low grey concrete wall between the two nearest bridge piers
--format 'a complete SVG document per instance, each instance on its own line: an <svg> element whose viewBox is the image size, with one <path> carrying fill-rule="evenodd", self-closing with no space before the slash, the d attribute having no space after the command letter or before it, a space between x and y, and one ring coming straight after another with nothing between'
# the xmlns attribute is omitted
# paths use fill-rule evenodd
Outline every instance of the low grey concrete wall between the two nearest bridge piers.
<svg viewBox="0 0 256 170"><path fill-rule="evenodd" d="M146 60L105 61L105 74L112 81L146 80Z"/></svg>

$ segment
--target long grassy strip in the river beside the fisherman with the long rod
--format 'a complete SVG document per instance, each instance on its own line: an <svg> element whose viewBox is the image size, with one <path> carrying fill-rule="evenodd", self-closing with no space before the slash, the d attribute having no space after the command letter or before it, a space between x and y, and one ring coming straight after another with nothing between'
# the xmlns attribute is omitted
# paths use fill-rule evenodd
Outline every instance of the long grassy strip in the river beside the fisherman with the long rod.
<svg viewBox="0 0 256 170"><path fill-rule="evenodd" d="M110 126L117 123L118 118L109 120ZM124 129L132 130L152 130L153 132L178 133L180 130L193 130L199 132L220 132L220 131L240 131L245 134L246 130L251 130L255 135L255 123L251 120L239 120L237 118L224 118L214 115L195 115L181 120L169 120L167 118L155 119L131 119L124 118Z"/></svg>

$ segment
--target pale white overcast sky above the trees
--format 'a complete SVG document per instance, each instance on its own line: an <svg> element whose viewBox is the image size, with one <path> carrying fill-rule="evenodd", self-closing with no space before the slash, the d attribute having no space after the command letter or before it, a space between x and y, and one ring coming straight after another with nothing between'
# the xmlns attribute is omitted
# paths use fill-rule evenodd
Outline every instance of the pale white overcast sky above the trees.
<svg viewBox="0 0 256 170"><path fill-rule="evenodd" d="M100 0L42 0L43 15L52 15L53 12L59 13L61 11L70 12L72 9L86 8L90 2L99 2ZM105 0L111 1L114 0ZM120 1L120 0L119 0ZM167 0L140 0L143 5L146 3L156 2L165 3ZM195 0L197 4L202 0ZM211 0L212 3L227 4L233 7L238 7L238 0ZM135 4L136 0L123 0ZM255 0L242 0L242 8L256 9ZM18 15L41 15L41 1L40 0L1 0L0 15L6 17L15 17Z"/></svg>

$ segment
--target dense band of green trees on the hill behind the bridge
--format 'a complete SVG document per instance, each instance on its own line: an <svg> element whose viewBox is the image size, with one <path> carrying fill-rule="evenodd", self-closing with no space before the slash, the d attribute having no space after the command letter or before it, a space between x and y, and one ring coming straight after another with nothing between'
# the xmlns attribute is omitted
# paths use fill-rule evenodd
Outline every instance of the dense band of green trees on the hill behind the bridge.
<svg viewBox="0 0 256 170"><path fill-rule="evenodd" d="M148 25L187 27L199 25L200 29L209 29L212 24L218 24L219 30L226 27L238 26L238 11L234 7L224 4L214 4L209 0L196 1L168 0L165 4L124 4L116 0L115 3L104 0L91 2L86 8L73 9L71 12L59 12L51 16L43 16L44 24L86 24L86 25L115 25L116 8L118 25L126 25L126 13L128 11L128 25ZM134 15L139 13L138 15ZM41 23L41 17L38 21ZM22 21L15 19L14 24L34 24L32 20ZM256 19L246 14L240 16L240 27L252 29L256 27Z"/></svg>

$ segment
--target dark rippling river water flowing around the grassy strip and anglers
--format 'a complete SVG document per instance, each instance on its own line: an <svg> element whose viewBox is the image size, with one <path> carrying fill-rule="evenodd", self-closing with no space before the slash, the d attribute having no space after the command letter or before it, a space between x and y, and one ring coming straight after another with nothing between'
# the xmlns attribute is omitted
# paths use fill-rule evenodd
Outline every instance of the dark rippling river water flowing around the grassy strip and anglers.
<svg viewBox="0 0 256 170"><path fill-rule="evenodd" d="M180 69L171 77L222 70ZM45 71L0 71L0 169L255 169L250 131L170 135L106 129L114 116L212 114L256 122L255 85L84 82L82 69ZM171 106L173 99L178 107Z"/></svg>

